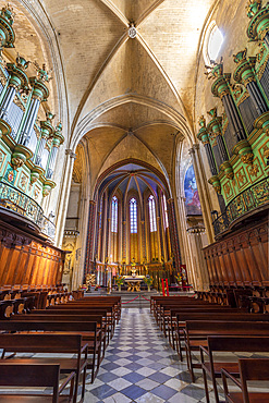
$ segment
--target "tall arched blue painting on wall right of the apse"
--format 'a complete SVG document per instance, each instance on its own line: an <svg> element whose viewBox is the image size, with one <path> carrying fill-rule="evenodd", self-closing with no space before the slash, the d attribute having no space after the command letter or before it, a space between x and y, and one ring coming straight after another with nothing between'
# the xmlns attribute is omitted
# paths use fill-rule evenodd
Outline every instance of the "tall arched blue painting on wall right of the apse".
<svg viewBox="0 0 269 403"><path fill-rule="evenodd" d="M200 200L194 174L194 167L191 166L185 174L184 180L184 192L185 192L185 207L187 216L201 215Z"/></svg>

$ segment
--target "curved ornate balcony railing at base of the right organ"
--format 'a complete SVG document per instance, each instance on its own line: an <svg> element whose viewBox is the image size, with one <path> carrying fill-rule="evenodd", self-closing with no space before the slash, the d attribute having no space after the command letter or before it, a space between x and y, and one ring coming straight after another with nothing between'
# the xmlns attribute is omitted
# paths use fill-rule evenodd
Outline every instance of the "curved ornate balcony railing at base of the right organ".
<svg viewBox="0 0 269 403"><path fill-rule="evenodd" d="M215 235L227 231L235 220L266 204L269 204L269 178L247 187L227 205L225 212L212 222Z"/></svg>

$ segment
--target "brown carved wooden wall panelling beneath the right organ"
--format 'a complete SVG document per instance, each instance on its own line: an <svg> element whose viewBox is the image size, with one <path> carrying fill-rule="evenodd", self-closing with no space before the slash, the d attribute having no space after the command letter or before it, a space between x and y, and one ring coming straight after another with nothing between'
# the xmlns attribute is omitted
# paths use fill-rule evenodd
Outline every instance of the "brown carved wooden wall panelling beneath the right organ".
<svg viewBox="0 0 269 403"><path fill-rule="evenodd" d="M269 285L268 219L204 248L210 284Z"/></svg>

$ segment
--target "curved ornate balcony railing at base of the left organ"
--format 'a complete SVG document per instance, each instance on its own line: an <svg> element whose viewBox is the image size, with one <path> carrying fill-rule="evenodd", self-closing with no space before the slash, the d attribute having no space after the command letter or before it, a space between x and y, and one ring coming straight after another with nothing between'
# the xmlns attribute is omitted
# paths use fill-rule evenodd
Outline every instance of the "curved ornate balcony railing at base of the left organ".
<svg viewBox="0 0 269 403"><path fill-rule="evenodd" d="M44 216L39 204L4 181L0 181L0 206L26 218L38 228L41 234L51 240L54 239L56 225Z"/></svg>

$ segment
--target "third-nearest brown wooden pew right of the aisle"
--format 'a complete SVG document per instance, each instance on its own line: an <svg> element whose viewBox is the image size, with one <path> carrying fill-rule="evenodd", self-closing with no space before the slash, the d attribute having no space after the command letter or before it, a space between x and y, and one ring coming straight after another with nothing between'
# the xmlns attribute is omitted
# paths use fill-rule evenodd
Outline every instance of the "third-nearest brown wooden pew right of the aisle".
<svg viewBox="0 0 269 403"><path fill-rule="evenodd" d="M183 331L187 368L194 382L193 369L201 368L201 365L193 364L192 351L198 351L200 345L207 346L209 335L268 335L269 322L187 320Z"/></svg>

